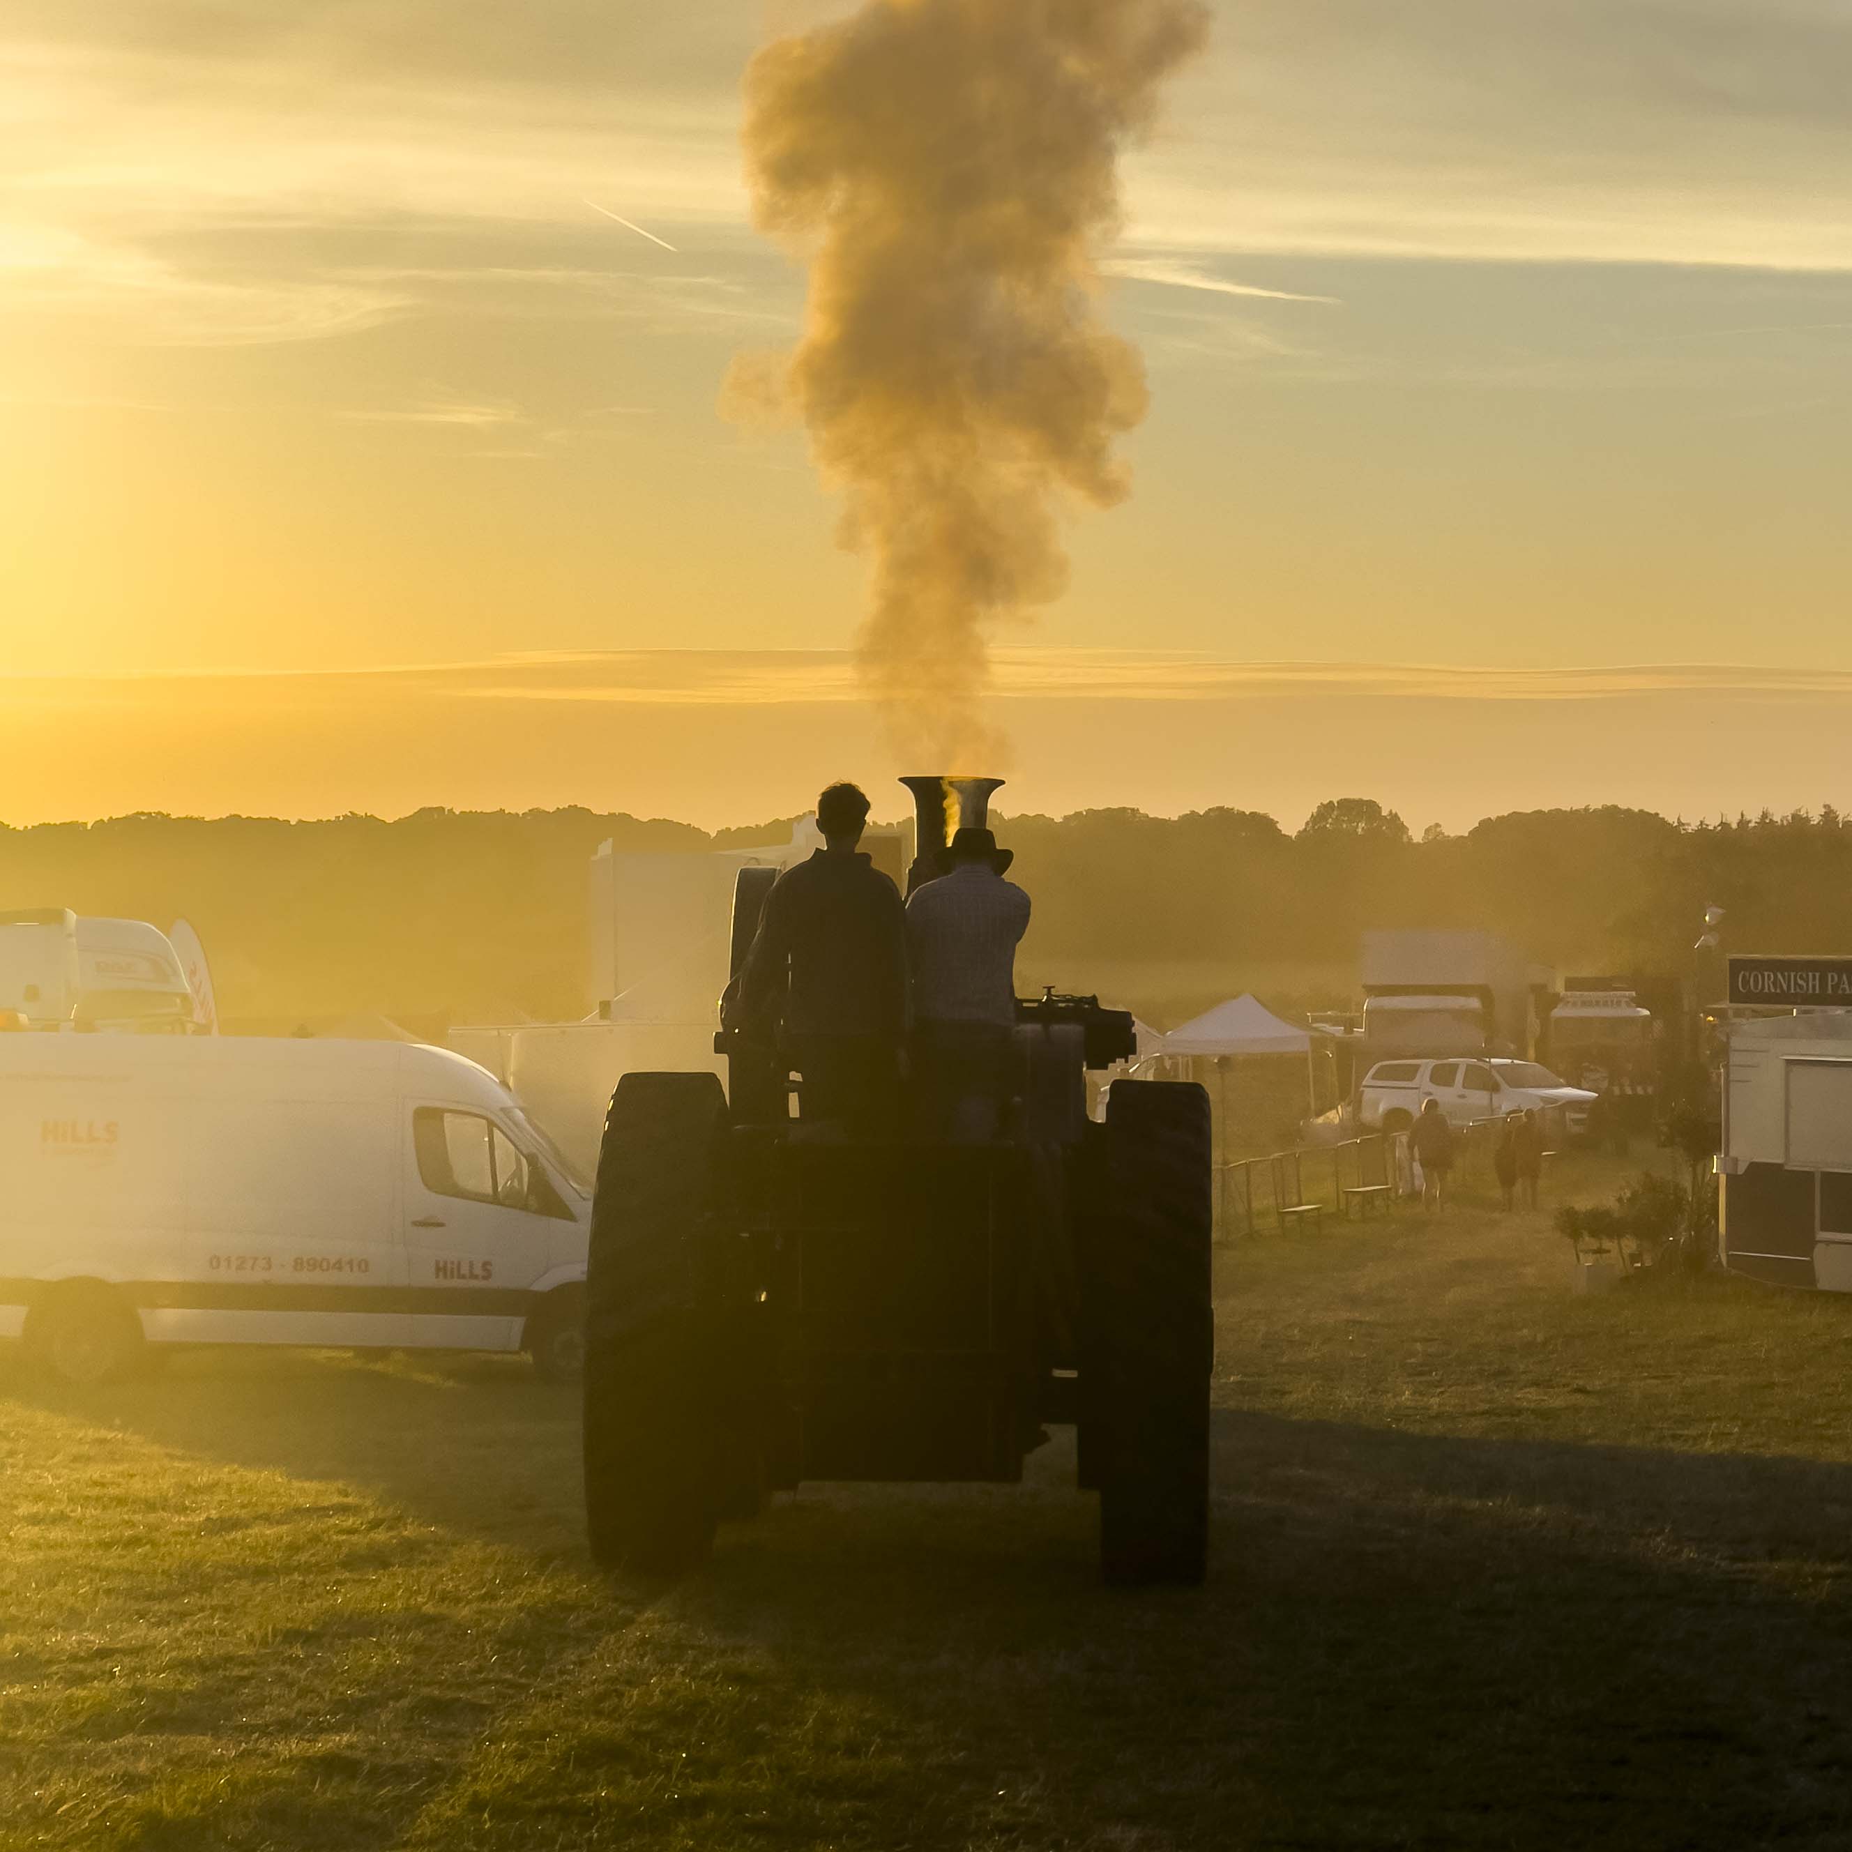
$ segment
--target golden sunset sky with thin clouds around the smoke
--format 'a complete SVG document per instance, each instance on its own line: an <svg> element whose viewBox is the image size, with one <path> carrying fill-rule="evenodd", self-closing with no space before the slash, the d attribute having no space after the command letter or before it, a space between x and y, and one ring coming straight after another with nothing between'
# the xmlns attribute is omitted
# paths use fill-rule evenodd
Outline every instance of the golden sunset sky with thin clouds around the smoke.
<svg viewBox="0 0 1852 1852"><path fill-rule="evenodd" d="M802 437L715 411L802 300L739 74L832 11L0 0L0 817L893 770ZM1135 493L1006 663L1026 800L1843 802L1783 735L1852 719L1848 98L1839 0L1220 6L1128 169ZM1693 663L1750 672L1508 680ZM1413 763L1437 726L1489 774Z"/></svg>

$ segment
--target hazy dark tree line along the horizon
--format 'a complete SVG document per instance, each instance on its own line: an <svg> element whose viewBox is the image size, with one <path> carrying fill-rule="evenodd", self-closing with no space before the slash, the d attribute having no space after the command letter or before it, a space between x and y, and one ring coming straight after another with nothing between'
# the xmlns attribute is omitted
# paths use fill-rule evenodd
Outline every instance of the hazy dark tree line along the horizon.
<svg viewBox="0 0 1852 1852"><path fill-rule="evenodd" d="M780 843L789 826L704 832L580 807L0 824L0 911L69 906L163 928L185 917L233 1020L382 1013L426 1033L563 1020L591 1002L600 843L698 854ZM1263 989L1274 1007L1343 1007L1372 926L1480 928L1565 972L1665 983L1689 974L1706 906L1726 909L1733 950L1852 950L1852 824L1832 806L1696 824L1619 806L1513 811L1419 841L1370 798L1322 804L1293 833L1230 807L996 828L1035 900L1024 965L1085 982L1095 961L1119 980L1115 1000L1156 1017L1287 969L1300 976Z"/></svg>

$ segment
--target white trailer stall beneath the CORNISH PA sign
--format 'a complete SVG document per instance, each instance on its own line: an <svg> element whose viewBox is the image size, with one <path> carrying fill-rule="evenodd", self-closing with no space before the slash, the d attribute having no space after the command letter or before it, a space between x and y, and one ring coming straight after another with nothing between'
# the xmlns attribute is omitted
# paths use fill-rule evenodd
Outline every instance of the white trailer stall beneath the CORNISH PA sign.
<svg viewBox="0 0 1852 1852"><path fill-rule="evenodd" d="M1732 1024L1717 1167L1726 1267L1852 1293L1852 1011Z"/></svg>

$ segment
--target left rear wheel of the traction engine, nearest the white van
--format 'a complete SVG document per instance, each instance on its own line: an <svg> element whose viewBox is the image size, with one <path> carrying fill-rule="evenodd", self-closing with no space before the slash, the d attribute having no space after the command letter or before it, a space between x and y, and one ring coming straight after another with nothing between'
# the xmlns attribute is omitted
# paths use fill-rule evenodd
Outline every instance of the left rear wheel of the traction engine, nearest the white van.
<svg viewBox="0 0 1852 1852"><path fill-rule="evenodd" d="M593 1558L676 1576L726 1498L720 1282L726 1095L713 1074L626 1074L611 1100L585 1276L585 1520Z"/></svg>

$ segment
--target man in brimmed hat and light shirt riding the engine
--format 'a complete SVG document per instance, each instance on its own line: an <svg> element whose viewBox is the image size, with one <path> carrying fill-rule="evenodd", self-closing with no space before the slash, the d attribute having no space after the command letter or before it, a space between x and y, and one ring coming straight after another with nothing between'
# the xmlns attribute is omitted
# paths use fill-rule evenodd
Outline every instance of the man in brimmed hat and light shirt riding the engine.
<svg viewBox="0 0 1852 1852"><path fill-rule="evenodd" d="M989 830L959 830L948 872L907 900L913 1080L928 1139L991 1139L1009 1098L1017 946L1030 924L1030 896L1004 880L1009 861Z"/></svg>

